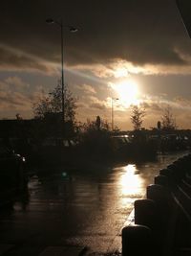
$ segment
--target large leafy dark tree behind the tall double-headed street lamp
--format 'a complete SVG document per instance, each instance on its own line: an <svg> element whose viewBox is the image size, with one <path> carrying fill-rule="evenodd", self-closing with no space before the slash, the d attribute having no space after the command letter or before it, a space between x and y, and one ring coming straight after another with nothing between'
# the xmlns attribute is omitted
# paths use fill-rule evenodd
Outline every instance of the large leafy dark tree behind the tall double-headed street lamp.
<svg viewBox="0 0 191 256"><path fill-rule="evenodd" d="M62 113L62 88L61 84L50 91L48 95L44 95L32 104L34 118L38 119L37 128L35 128L37 137L47 136L64 136L74 137L76 131L75 113L76 98L71 91L65 90L65 123L63 126ZM63 131L64 130L64 131Z"/></svg>

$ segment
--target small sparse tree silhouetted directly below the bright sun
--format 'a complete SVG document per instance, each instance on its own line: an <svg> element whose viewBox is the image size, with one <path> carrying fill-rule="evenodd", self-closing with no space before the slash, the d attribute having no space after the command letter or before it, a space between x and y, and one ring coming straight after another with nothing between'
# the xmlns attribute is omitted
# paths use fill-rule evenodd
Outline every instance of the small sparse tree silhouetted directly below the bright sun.
<svg viewBox="0 0 191 256"><path fill-rule="evenodd" d="M138 105L132 106L131 121L132 121L134 130L139 130L141 128L144 116L145 116L144 108L138 107Z"/></svg>

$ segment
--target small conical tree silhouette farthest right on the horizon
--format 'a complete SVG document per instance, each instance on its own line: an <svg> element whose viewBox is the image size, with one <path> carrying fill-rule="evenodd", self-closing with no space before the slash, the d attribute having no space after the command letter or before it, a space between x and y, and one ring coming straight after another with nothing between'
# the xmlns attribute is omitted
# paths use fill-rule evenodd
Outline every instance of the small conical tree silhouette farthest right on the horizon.
<svg viewBox="0 0 191 256"><path fill-rule="evenodd" d="M161 125L162 129L167 131L175 130L177 128L176 119L173 116L172 108L169 105L163 110Z"/></svg>

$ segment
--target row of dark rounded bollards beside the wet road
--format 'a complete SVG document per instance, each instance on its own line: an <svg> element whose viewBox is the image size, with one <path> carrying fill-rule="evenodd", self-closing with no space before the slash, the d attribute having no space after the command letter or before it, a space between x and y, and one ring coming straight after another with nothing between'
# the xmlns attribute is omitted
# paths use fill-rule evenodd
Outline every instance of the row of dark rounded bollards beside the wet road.
<svg viewBox="0 0 191 256"><path fill-rule="evenodd" d="M135 201L135 223L122 230L122 255L191 255L191 154L155 176Z"/></svg>

